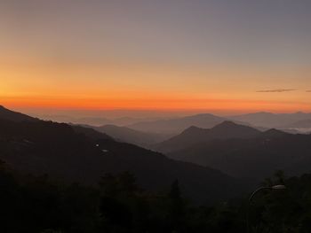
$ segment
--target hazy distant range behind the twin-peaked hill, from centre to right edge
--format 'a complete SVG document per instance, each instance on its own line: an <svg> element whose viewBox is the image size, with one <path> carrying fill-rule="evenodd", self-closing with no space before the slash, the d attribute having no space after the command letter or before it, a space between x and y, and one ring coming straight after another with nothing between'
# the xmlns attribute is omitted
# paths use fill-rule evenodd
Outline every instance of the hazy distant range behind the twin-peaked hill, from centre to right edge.
<svg viewBox="0 0 311 233"><path fill-rule="evenodd" d="M230 120L240 125L257 128L261 131L268 128L279 128L291 133L305 132L309 124L301 124L301 121L311 120L311 113L250 113L243 115L220 117L210 113L202 113L187 117L173 118L171 120L143 121L128 125L128 128L154 133L166 133L178 135L185 129L194 126L197 128L212 128L219 123ZM298 124L303 127L292 128L291 124ZM302 130L300 130L302 129ZM311 132L311 130L310 130Z"/></svg>

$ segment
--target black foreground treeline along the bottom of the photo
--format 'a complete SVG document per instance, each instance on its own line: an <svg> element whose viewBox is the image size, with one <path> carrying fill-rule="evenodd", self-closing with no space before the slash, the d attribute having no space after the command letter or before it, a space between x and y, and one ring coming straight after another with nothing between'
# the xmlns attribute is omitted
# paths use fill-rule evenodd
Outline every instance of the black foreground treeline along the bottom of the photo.
<svg viewBox="0 0 311 233"><path fill-rule="evenodd" d="M195 206L179 183L167 193L141 190L130 173L105 175L99 186L55 183L47 176L0 168L0 231L10 233L310 232L311 175L275 181L287 190L263 191L215 206Z"/></svg>

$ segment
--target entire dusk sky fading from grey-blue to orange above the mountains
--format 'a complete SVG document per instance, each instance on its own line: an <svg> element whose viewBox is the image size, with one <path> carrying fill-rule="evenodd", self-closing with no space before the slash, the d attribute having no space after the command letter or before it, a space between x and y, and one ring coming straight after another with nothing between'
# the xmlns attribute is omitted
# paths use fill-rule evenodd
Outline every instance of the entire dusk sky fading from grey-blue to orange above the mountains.
<svg viewBox="0 0 311 233"><path fill-rule="evenodd" d="M309 0L0 0L0 105L311 112L310 12Z"/></svg>

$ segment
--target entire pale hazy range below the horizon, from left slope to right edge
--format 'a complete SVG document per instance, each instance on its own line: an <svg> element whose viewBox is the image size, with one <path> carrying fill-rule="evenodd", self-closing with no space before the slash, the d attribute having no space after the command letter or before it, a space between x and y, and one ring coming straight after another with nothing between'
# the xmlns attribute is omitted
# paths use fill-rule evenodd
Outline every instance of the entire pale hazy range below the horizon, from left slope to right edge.
<svg viewBox="0 0 311 233"><path fill-rule="evenodd" d="M290 133L311 132L309 123L311 120L311 113L262 112L227 117L216 116L210 113L201 113L187 117L173 117L171 119L140 119L132 117L108 119L105 117L75 118L68 116L44 116L43 118L44 120L92 125L94 127L115 125L118 127L132 128L139 132L171 136L176 136L191 126L197 128L212 128L225 120L257 128L261 131L267 130L268 128L278 128ZM127 140L125 140L125 142L126 141ZM145 142L143 142L143 144L145 144Z"/></svg>

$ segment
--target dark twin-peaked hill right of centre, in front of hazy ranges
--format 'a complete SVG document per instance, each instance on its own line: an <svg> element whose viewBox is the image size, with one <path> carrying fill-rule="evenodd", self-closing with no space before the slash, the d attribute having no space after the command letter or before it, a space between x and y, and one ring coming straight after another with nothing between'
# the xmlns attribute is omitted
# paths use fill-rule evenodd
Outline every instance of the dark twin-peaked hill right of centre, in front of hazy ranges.
<svg viewBox="0 0 311 233"><path fill-rule="evenodd" d="M213 128L197 128L192 126L178 136L173 136L163 143L152 146L152 149L167 153L179 151L193 144L208 142L214 139L248 138L258 136L259 134L260 131L255 128L238 125L226 120Z"/></svg>

